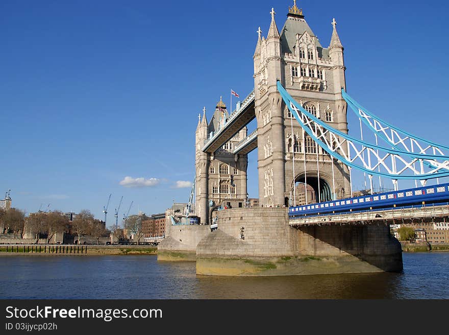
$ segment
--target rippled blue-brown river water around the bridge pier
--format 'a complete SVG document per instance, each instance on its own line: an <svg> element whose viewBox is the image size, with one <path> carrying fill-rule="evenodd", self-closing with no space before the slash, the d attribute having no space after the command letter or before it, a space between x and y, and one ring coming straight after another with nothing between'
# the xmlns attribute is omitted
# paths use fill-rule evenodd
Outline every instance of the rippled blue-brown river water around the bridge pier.
<svg viewBox="0 0 449 335"><path fill-rule="evenodd" d="M449 252L403 253L403 273L197 276L156 256L0 256L2 299L449 299Z"/></svg>

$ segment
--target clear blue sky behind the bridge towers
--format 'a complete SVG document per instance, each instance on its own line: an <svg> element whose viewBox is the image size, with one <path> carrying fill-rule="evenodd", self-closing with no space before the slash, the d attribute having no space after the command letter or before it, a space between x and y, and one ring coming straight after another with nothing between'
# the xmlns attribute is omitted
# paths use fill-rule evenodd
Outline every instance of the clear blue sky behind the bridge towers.
<svg viewBox="0 0 449 335"><path fill-rule="evenodd" d="M108 226L121 196L120 217L131 201L148 214L186 202L198 113L252 90L256 30L266 35L271 7L281 29L292 3L2 0L0 192L27 212L51 204L98 219L112 193ZM323 46L336 18L348 93L449 145L445 2L298 5ZM258 197L254 152L248 173ZM120 185L127 176L143 187Z"/></svg>

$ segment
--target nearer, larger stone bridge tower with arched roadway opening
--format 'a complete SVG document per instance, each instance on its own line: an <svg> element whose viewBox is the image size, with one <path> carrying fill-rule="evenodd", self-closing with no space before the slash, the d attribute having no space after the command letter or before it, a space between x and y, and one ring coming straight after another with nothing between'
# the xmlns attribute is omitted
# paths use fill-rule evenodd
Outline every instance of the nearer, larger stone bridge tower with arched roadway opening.
<svg viewBox="0 0 449 335"><path fill-rule="evenodd" d="M259 28L254 54L260 204L275 207L305 203L306 198L308 203L342 198L350 192L347 168L305 135L277 90L279 80L306 110L347 133L347 106L341 96L345 66L336 21L326 49L296 1L281 33L275 14L272 9L266 38Z"/></svg>

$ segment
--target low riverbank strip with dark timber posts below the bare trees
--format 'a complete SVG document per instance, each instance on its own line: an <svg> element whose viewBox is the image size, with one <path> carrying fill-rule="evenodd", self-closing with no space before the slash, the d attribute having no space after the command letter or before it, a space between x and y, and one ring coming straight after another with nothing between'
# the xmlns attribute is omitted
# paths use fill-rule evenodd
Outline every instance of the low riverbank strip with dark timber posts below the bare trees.
<svg viewBox="0 0 449 335"><path fill-rule="evenodd" d="M0 255L156 255L157 247L95 245L0 245Z"/></svg>

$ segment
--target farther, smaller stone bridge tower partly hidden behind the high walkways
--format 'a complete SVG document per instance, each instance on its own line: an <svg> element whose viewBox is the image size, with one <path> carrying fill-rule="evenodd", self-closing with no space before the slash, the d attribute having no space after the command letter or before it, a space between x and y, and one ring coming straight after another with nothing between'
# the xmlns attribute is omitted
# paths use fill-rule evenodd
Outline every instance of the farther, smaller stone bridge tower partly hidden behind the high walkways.
<svg viewBox="0 0 449 335"><path fill-rule="evenodd" d="M236 144L246 137L244 127L213 154L202 151L204 141L221 129L229 117L226 104L220 98L211 121L207 122L206 108L203 119L198 115L195 134L195 214L203 224L209 223L209 210L216 205L244 207L247 201L247 154L233 154Z"/></svg>

